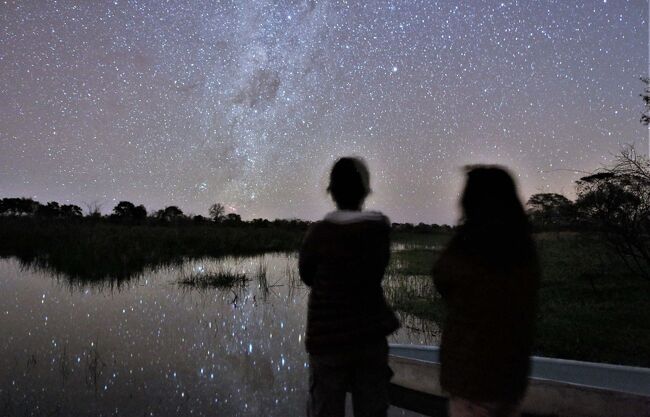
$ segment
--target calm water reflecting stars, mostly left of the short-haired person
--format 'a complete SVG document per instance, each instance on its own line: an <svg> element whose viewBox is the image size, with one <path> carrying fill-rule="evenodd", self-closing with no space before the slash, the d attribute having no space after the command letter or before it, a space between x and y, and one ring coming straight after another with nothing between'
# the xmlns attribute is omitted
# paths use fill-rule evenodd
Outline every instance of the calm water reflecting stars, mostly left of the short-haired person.
<svg viewBox="0 0 650 417"><path fill-rule="evenodd" d="M0 260L0 415L304 415L308 289L296 263L193 260L111 287ZM177 284L215 268L253 279ZM391 341L437 342L435 325L403 322Z"/></svg>

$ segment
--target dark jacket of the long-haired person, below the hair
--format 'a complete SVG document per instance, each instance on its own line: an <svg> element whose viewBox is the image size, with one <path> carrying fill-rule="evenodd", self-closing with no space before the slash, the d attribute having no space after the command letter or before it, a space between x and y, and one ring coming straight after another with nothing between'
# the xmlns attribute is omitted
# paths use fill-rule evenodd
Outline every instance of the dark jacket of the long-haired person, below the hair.
<svg viewBox="0 0 650 417"><path fill-rule="evenodd" d="M474 401L517 402L526 390L533 343L539 280L534 246L530 241L529 250L505 256L490 248L481 256L467 249L467 239L461 231L433 268L448 307L440 383Z"/></svg>

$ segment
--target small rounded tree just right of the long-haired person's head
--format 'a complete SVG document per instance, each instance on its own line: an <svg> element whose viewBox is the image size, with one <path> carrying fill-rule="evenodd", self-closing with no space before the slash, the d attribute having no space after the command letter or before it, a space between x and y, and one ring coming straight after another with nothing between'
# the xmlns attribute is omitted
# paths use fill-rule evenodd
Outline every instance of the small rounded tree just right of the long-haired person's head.
<svg viewBox="0 0 650 417"><path fill-rule="evenodd" d="M531 222L539 229L568 227L575 221L573 203L562 194L533 194L526 207Z"/></svg>

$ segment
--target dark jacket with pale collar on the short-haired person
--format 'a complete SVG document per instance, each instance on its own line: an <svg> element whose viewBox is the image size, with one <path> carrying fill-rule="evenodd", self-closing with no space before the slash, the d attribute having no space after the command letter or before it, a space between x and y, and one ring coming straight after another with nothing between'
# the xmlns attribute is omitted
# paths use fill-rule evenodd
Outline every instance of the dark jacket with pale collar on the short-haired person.
<svg viewBox="0 0 650 417"><path fill-rule="evenodd" d="M300 278L311 287L305 345L312 354L377 342L399 327L381 287L390 257L388 219L343 213L352 217L328 215L312 225L300 250Z"/></svg>

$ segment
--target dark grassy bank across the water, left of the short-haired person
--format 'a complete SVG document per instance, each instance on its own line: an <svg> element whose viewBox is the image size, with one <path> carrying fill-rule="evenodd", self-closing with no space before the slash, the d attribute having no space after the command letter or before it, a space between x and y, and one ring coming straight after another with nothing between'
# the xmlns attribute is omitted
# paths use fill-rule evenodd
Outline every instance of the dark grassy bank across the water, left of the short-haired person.
<svg viewBox="0 0 650 417"><path fill-rule="evenodd" d="M187 258L294 251L303 231L274 226L122 224L0 217L0 256L83 282L121 281Z"/></svg>

